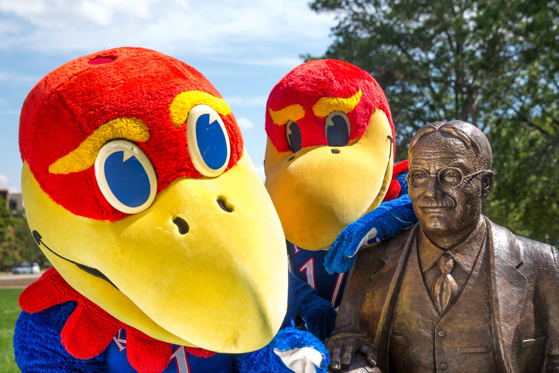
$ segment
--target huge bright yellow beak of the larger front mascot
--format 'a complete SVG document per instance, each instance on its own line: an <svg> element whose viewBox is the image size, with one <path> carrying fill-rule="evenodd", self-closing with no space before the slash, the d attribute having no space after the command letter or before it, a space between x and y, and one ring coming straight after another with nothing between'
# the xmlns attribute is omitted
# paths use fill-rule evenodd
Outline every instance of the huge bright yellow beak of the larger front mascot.
<svg viewBox="0 0 559 373"><path fill-rule="evenodd" d="M280 328L285 238L246 153L219 177L178 178L147 210L112 223L53 202L27 163L22 189L30 228L51 250L41 245L49 261L122 322L161 341L227 353L258 350Z"/></svg>

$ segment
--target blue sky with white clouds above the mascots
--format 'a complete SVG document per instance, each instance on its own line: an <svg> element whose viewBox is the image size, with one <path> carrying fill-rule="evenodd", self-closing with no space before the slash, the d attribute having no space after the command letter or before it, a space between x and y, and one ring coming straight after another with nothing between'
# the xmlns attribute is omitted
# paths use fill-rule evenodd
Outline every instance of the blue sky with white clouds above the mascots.
<svg viewBox="0 0 559 373"><path fill-rule="evenodd" d="M0 186L20 191L21 105L46 73L81 55L141 46L200 70L229 102L263 177L269 91L300 54L321 55L335 15L307 1L0 0Z"/></svg>

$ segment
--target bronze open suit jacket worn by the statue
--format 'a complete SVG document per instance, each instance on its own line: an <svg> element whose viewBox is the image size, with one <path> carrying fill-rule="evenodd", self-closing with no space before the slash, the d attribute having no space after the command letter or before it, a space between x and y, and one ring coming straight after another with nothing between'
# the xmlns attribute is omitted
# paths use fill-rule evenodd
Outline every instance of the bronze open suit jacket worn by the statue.
<svg viewBox="0 0 559 373"><path fill-rule="evenodd" d="M551 245L487 223L494 351L501 373L559 373L558 252ZM388 373L394 305L418 224L361 248L350 270L332 335L366 334ZM402 357L405 358L405 357Z"/></svg>

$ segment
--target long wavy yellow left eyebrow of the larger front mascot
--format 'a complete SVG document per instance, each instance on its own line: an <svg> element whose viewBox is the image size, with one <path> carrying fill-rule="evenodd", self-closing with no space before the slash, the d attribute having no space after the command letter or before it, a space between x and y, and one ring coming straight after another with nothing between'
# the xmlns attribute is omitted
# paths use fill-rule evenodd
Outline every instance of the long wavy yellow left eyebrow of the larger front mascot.
<svg viewBox="0 0 559 373"><path fill-rule="evenodd" d="M112 139L123 138L145 143L149 139L148 126L137 118L117 118L100 125L72 152L49 166L50 173L67 174L85 171L93 166L99 149Z"/></svg>

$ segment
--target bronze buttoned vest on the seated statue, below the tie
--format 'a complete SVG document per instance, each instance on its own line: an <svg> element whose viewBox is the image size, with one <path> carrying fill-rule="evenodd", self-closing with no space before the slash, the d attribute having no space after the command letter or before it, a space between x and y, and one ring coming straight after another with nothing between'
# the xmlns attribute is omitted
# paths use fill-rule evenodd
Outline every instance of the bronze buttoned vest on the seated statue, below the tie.
<svg viewBox="0 0 559 373"><path fill-rule="evenodd" d="M487 294L486 245L462 292L443 315L433 304L418 257L414 244L395 305L390 372L498 372Z"/></svg>

